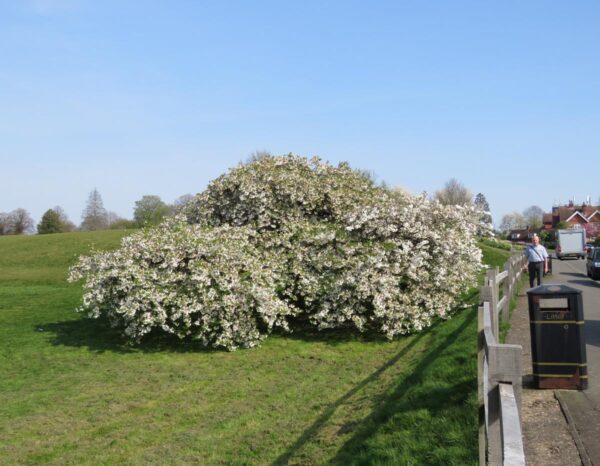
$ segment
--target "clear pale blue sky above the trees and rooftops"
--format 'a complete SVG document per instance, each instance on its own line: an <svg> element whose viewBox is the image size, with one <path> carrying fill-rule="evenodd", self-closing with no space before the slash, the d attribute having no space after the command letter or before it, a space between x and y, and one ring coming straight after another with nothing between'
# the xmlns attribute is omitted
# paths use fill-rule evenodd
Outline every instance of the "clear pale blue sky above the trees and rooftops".
<svg viewBox="0 0 600 466"><path fill-rule="evenodd" d="M494 220L600 197L600 3L0 0L0 212L318 155Z"/></svg>

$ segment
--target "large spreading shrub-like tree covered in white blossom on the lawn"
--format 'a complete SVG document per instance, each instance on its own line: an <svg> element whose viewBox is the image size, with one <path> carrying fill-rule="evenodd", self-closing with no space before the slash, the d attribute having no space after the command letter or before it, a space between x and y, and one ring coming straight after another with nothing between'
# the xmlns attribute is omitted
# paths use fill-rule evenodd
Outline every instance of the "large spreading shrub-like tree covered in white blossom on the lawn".
<svg viewBox="0 0 600 466"><path fill-rule="evenodd" d="M258 344L299 319L388 338L448 317L481 266L478 212L293 155L232 169L181 215L82 257L82 310L132 341L157 330Z"/></svg>

